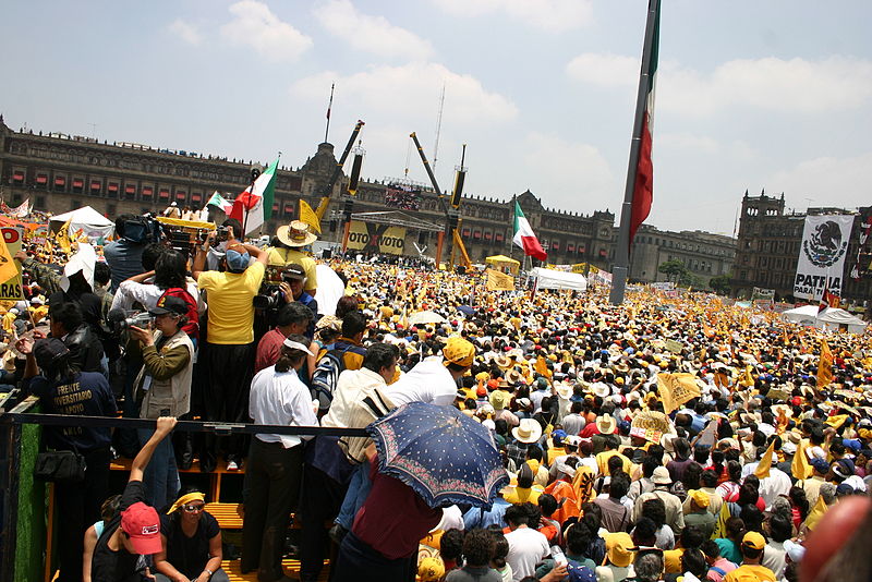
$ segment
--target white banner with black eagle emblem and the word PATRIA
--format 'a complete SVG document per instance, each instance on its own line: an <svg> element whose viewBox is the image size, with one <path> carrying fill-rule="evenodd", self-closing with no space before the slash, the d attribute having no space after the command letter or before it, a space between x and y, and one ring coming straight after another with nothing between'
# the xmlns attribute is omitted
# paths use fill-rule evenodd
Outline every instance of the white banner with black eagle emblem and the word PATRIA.
<svg viewBox="0 0 872 582"><path fill-rule="evenodd" d="M799 246L794 296L819 301L824 289L841 296L845 256L853 216L807 216Z"/></svg>

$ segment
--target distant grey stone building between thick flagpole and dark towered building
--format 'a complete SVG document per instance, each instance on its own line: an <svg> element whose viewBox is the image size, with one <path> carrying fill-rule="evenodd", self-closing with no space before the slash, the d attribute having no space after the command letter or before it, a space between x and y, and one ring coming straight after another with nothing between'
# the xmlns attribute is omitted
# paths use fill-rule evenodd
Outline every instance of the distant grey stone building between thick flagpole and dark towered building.
<svg viewBox="0 0 872 582"><path fill-rule="evenodd" d="M713 277L730 271L735 257L736 239L731 237L699 230L670 232L642 225L630 251L629 278L643 283L666 281L668 277L657 268L677 259L707 287Z"/></svg>

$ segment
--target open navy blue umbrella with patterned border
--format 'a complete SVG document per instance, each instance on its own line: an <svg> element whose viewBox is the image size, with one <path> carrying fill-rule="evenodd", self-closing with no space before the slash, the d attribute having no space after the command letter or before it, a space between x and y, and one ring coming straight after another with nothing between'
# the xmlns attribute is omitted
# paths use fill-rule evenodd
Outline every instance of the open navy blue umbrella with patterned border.
<svg viewBox="0 0 872 582"><path fill-rule="evenodd" d="M509 483L491 431L453 407L410 402L366 427L378 471L431 507L488 507Z"/></svg>

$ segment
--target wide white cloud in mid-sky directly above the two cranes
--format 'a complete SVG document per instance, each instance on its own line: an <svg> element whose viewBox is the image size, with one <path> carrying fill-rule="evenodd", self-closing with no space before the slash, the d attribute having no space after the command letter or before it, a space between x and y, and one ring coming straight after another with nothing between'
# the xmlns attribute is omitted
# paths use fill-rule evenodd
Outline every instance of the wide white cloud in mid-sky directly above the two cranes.
<svg viewBox="0 0 872 582"><path fill-rule="evenodd" d="M444 119L450 123L489 124L514 119L518 108L507 97L486 90L472 75L463 75L438 63L377 65L341 76L319 73L296 82L291 92L313 101L324 99L325 87L336 81L337 98L353 96L364 119L386 114L398 122L427 120L433 124L445 84ZM433 104L432 109L427 107Z"/></svg>

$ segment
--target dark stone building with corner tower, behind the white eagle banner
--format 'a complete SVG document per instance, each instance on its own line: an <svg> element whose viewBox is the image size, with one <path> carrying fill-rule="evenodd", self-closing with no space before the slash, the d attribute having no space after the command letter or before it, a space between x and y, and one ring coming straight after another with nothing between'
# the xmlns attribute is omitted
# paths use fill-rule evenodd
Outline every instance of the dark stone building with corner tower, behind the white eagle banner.
<svg viewBox="0 0 872 582"><path fill-rule="evenodd" d="M845 260L841 296L849 305L863 305L872 298L872 274L862 271L859 280L851 279L850 269L857 257L859 229L862 217L872 216L872 207L853 210L840 208L809 208L806 213L786 211L784 194L742 197L739 218L739 238L736 252L736 266L732 271L732 293L739 298L750 298L754 287L774 289L779 301L794 302L794 279L799 262L802 230L807 215L853 214ZM869 244L867 244L867 248ZM870 257L865 255L868 267Z"/></svg>

